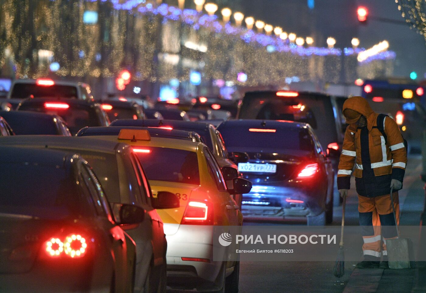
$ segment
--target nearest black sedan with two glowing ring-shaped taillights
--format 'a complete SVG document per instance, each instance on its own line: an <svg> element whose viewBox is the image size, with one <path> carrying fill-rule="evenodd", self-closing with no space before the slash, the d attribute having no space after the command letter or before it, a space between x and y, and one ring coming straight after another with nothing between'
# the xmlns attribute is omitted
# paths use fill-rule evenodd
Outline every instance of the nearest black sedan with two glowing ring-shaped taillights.
<svg viewBox="0 0 426 293"><path fill-rule="evenodd" d="M0 291L130 292L135 243L86 161L74 153L0 147ZM13 186L13 188L11 188Z"/></svg>

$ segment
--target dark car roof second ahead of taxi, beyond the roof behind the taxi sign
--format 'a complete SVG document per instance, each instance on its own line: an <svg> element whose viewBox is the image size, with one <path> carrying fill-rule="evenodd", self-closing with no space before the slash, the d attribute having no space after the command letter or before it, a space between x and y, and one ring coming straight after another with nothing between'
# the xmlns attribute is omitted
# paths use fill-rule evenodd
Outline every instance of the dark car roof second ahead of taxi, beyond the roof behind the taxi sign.
<svg viewBox="0 0 426 293"><path fill-rule="evenodd" d="M159 119L118 119L112 122L111 126L138 126L138 127L181 127L189 128L193 131L209 130L210 124L208 121L181 121L181 120L159 120Z"/></svg>

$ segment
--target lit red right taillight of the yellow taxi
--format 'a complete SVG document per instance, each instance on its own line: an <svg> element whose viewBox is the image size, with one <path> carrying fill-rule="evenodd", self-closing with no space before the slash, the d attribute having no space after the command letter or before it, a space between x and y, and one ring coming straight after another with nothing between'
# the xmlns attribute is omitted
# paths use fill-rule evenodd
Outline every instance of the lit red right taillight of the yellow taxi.
<svg viewBox="0 0 426 293"><path fill-rule="evenodd" d="M181 221L182 225L213 225L213 205L207 201L190 201Z"/></svg>

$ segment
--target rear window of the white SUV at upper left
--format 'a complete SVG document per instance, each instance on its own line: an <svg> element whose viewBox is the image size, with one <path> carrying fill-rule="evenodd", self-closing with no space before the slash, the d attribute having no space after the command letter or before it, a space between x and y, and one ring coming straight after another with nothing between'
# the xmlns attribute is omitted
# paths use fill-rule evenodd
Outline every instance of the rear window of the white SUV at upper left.
<svg viewBox="0 0 426 293"><path fill-rule="evenodd" d="M60 97L77 99L77 87L71 85L43 86L29 83L16 83L12 88L11 98L26 99L29 96L35 98Z"/></svg>

